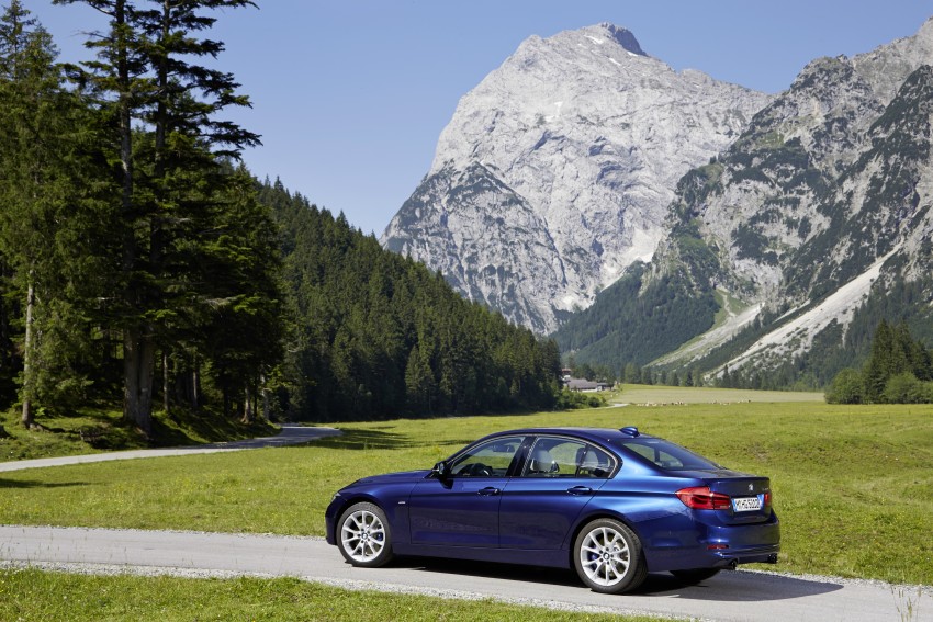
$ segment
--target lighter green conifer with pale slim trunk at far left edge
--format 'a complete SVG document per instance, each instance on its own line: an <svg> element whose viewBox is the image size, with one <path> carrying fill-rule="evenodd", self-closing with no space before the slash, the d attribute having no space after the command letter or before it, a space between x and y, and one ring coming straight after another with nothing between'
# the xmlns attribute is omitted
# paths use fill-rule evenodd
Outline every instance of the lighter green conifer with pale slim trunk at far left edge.
<svg viewBox="0 0 933 622"><path fill-rule="evenodd" d="M85 234L102 233L100 215L89 211L93 190L76 190L90 172L80 149L83 102L65 89L52 37L29 15L13 0L0 18L0 257L3 289L19 298L13 308L8 297L2 324L9 331L14 315L23 326L19 397L26 427L37 399L54 406L92 384L83 303L95 297L88 285L97 280L98 251Z"/></svg>

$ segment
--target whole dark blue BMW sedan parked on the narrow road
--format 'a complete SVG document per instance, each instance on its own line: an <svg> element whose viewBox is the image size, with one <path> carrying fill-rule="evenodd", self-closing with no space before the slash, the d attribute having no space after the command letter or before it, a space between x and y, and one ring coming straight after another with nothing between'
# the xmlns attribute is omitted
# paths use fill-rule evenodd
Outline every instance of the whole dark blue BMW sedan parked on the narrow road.
<svg viewBox="0 0 933 622"><path fill-rule="evenodd" d="M430 471L355 482L325 517L355 566L417 555L575 568L606 593L649 572L699 583L776 563L780 541L767 477L637 428L497 432Z"/></svg>

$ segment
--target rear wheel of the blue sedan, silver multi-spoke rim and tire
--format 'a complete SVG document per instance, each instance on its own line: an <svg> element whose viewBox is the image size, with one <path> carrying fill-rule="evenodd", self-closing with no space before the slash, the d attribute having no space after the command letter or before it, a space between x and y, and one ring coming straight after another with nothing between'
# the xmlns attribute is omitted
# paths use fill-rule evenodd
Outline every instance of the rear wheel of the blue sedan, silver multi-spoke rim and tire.
<svg viewBox="0 0 933 622"><path fill-rule="evenodd" d="M625 593L648 576L641 541L612 519L597 519L583 528L573 544L576 574L593 591Z"/></svg>

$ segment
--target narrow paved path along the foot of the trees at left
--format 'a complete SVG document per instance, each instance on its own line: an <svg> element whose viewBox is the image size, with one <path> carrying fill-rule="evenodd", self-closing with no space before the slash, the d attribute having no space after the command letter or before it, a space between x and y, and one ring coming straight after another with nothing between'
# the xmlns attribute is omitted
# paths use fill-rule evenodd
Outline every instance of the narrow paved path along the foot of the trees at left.
<svg viewBox="0 0 933 622"><path fill-rule="evenodd" d="M108 453L92 453L88 455L66 455L61 457L43 457L38 460L20 460L14 462L0 462L0 473L5 471L22 471L24 468L40 468L43 466L63 466L66 464L86 464L89 462L104 462L109 460L136 460L140 457L161 457L166 455L190 455L194 453L217 453L224 451L243 451L248 449L274 448L306 443L322 437L339 434L340 430L334 428L310 428L304 426L282 426L282 431L274 437L259 439L247 439L244 441L231 441L226 443L213 443L207 445L192 445L188 448L153 449L114 451Z"/></svg>

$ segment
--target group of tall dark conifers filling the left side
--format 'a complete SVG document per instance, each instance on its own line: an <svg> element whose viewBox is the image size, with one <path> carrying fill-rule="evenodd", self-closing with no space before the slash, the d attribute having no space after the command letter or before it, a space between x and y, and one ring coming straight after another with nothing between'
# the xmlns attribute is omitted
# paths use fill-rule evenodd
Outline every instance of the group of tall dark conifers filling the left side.
<svg viewBox="0 0 933 622"><path fill-rule="evenodd" d="M251 404L280 360L276 229L233 162L258 137L201 14L244 0L89 2L92 60L61 66L12 0L0 16L0 375L31 427L45 411ZM161 404L159 404L159 402Z"/></svg>

